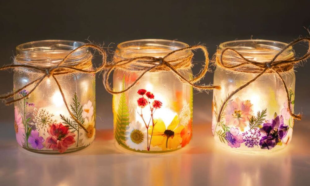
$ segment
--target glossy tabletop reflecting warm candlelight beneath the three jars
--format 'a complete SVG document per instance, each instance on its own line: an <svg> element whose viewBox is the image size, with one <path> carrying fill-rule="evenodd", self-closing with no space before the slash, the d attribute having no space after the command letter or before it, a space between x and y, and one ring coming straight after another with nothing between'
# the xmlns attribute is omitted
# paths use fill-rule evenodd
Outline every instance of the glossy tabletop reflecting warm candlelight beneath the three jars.
<svg viewBox="0 0 310 186"><path fill-rule="evenodd" d="M194 124L193 142L167 154L123 153L114 145L112 129L98 130L89 148L59 156L27 152L12 139L0 143L2 185L286 186L309 182L310 150L305 148L309 140L301 126L296 127L288 148L270 155L217 148L209 128L210 124Z"/></svg>

